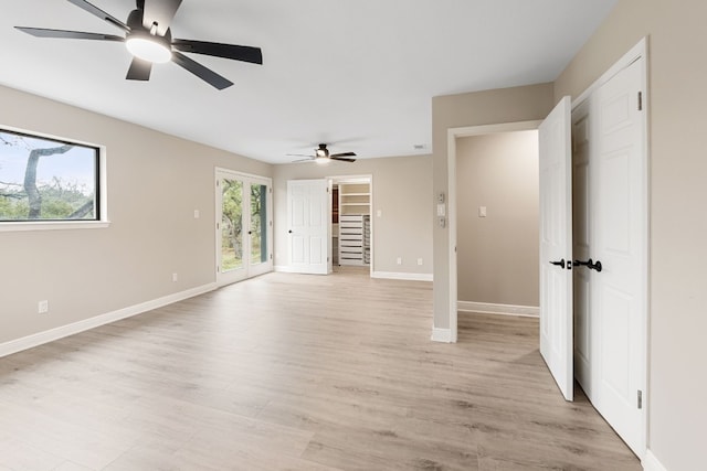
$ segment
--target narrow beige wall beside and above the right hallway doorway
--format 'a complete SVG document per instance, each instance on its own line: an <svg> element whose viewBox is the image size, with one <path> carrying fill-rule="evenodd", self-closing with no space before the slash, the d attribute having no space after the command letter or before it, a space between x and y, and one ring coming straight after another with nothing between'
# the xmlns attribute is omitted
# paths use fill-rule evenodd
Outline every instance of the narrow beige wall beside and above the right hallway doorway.
<svg viewBox="0 0 707 471"><path fill-rule="evenodd" d="M447 129L544 119L552 109L552 84L529 85L432 99L434 194L449 192ZM434 327L450 328L450 234L434 225Z"/></svg>

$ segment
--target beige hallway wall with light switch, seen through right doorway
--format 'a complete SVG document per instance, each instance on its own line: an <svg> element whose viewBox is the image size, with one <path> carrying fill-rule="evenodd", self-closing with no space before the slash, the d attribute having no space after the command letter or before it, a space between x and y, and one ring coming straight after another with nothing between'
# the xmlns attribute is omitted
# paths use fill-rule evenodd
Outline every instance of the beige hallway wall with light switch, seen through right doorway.
<svg viewBox="0 0 707 471"><path fill-rule="evenodd" d="M457 139L456 181L458 300L538 307L538 131Z"/></svg>

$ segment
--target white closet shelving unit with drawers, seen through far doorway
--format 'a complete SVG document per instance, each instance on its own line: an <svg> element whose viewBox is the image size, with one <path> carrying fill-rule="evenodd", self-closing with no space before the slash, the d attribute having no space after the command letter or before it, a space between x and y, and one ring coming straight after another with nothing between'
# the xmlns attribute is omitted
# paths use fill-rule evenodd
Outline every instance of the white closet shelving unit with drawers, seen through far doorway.
<svg viewBox="0 0 707 471"><path fill-rule="evenodd" d="M369 183L339 184L339 265L369 265L371 239Z"/></svg>

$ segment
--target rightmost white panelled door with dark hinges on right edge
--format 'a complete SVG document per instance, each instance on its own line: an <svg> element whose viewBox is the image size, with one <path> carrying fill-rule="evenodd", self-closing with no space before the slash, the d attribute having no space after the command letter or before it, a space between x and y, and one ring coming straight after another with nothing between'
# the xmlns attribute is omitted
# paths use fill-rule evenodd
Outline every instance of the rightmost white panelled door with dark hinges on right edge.
<svg viewBox="0 0 707 471"><path fill-rule="evenodd" d="M592 152L592 363L590 399L623 440L645 452L647 169L641 58L602 85L590 114Z"/></svg>

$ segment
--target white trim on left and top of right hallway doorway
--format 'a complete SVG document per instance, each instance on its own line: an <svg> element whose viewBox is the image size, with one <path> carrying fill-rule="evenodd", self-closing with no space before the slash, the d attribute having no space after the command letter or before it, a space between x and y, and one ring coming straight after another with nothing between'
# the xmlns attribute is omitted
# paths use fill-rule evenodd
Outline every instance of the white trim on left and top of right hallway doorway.
<svg viewBox="0 0 707 471"><path fill-rule="evenodd" d="M504 122L498 125L466 126L447 129L446 169L447 169L447 232L450 260L450 342L457 339L457 264L456 264L456 139L502 132L529 131L538 129L542 120Z"/></svg>

